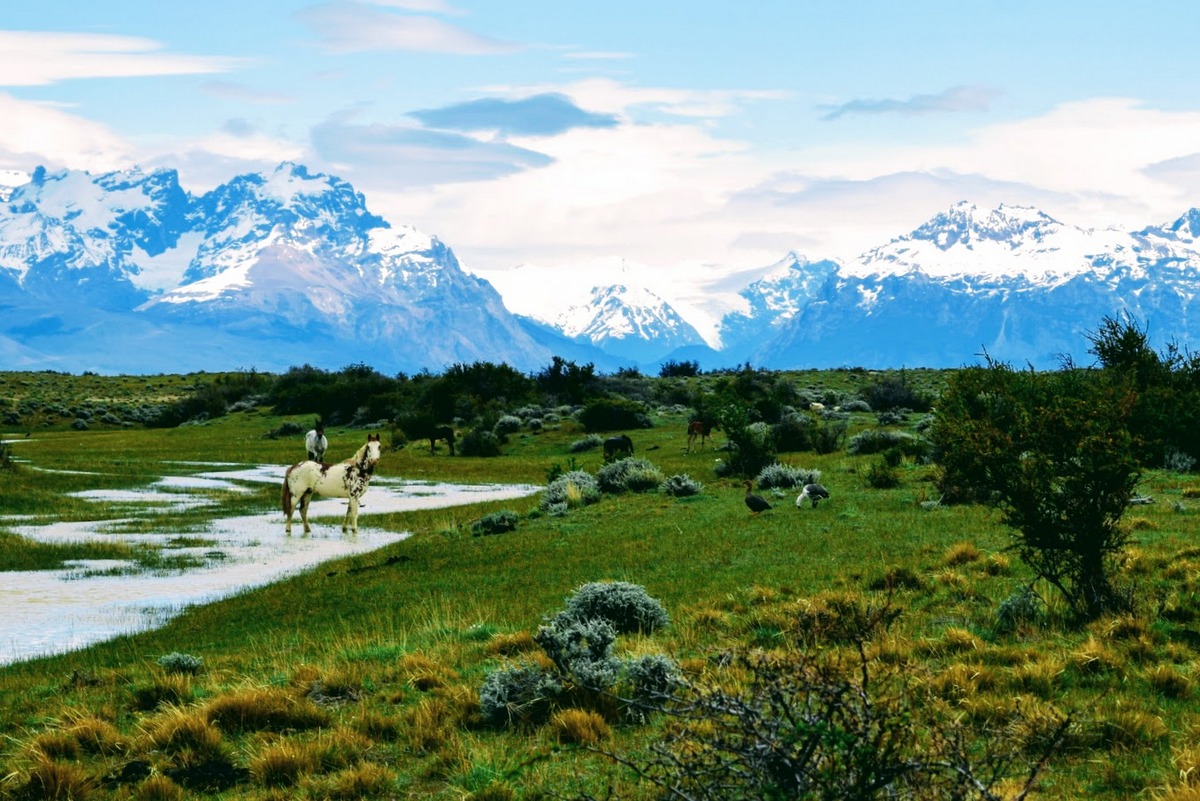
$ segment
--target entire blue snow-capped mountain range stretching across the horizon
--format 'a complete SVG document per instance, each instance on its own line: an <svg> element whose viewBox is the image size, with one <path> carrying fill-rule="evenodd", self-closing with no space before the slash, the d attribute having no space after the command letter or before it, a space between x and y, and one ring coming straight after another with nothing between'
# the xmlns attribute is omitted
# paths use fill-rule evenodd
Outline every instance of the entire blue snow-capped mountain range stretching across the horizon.
<svg viewBox="0 0 1200 801"><path fill-rule="evenodd" d="M283 163L192 195L174 170L49 174L0 195L0 367L107 373L364 362L612 371L953 367L984 349L1078 361L1104 315L1200 335L1200 210L1136 231L961 203L850 264L791 253L740 293L721 345L664 299L598 287L552 321L510 313L438 239L371 213L334 176Z"/></svg>

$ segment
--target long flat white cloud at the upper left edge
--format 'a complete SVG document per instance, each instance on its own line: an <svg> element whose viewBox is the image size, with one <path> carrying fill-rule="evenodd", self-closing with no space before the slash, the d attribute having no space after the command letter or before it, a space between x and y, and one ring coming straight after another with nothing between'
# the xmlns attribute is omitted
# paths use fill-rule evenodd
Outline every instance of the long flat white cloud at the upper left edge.
<svg viewBox="0 0 1200 801"><path fill-rule="evenodd" d="M0 86L40 86L72 78L130 78L227 72L241 59L161 52L137 36L0 30Z"/></svg>

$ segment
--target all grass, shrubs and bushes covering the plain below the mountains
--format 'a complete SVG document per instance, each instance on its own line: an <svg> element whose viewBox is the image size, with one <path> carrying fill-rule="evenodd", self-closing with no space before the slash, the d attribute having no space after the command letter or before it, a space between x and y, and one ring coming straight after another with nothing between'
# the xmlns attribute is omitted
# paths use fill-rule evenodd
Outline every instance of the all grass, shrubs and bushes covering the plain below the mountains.
<svg viewBox="0 0 1200 801"><path fill-rule="evenodd" d="M0 374L5 516L287 464L318 416L331 458L382 427L384 476L546 486L364 517L413 536L0 668L0 799L1200 797L1200 371L1135 326L1093 344L1049 373ZM431 452L445 423L474 444ZM2 526L2 570L115 547Z"/></svg>

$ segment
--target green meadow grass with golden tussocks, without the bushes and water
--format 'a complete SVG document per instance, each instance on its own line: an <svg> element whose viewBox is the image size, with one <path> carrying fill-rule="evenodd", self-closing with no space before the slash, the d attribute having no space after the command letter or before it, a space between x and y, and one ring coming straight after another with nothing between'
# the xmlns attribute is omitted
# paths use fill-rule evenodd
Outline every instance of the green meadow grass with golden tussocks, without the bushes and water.
<svg viewBox="0 0 1200 801"><path fill-rule="evenodd" d="M870 379L862 371L782 378L847 397ZM936 392L944 374L918 378ZM4 373L0 406L36 395L40 409L127 410L205 379ZM206 469L198 463L290 464L304 456L302 435L268 434L312 422L268 406L175 428L90 417L86 429L58 411L0 423L11 440L0 469L0 582L2 571L77 559L170 570L152 546L36 544L5 518L126 518L119 504L68 494L142 488ZM821 661L850 676L869 671L878 709L894 712L881 725L906 731L913 753L959 737L982 761L1003 743L1010 759L967 797L1200 799L1194 474L1147 471L1139 493L1153 502L1124 517L1133 544L1120 578L1133 613L1072 625L1054 591L1034 584L1044 603L1004 625L1028 570L995 512L937 502L932 464L906 457L894 465L896 486L881 489L869 480L878 454L782 452L784 464L820 470L832 498L797 508L796 490L756 490L774 508L751 514L742 480L714 471L722 432L688 452L686 409L655 406L650 417L653 427L628 432L636 456L701 482L698 494L605 493L565 514L547 513L538 495L371 514L368 492L360 526L408 538L190 608L155 631L0 667L0 799L666 797L652 781L662 773L648 767L661 766L655 754L695 752L721 721L668 709L631 715L619 693L578 688L510 724L484 713L490 675L552 667L539 626L595 582L636 584L661 603L670 625L622 633L616 654L670 657L683 686L737 694L752 683L754 664L786 673ZM922 417L845 418L852 436L914 433ZM377 475L385 477L545 484L604 464L600 450L572 451L587 434L569 415L510 433L491 458L451 457L444 445L430 453L428 441L394 447L383 434ZM330 426L326 435L326 458L346 458L367 430ZM127 528L203 538L209 520L277 510L278 487L215 500ZM473 534L473 523L502 511L516 513L515 530ZM337 523L314 525L329 534ZM856 625L858 633L838 634ZM758 797L739 793L727 797Z"/></svg>

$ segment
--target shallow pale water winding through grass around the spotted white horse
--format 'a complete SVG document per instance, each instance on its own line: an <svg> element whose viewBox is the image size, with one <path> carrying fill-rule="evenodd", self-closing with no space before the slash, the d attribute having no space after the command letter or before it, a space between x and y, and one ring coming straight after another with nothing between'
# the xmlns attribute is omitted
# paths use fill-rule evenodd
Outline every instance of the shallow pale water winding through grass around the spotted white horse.
<svg viewBox="0 0 1200 801"><path fill-rule="evenodd" d="M144 490L89 490L80 498L127 505L121 520L29 525L0 518L6 528L41 542L103 540L156 543L163 555L194 558L196 567L127 572L112 560L77 562L59 571L8 572L0 580L0 664L59 654L118 634L160 626L188 606L208 603L260 586L323 561L380 548L408 536L370 526L372 514L439 508L530 495L529 484L448 484L377 477L362 498L365 525L343 536L346 500L317 499L308 536L283 531L283 513L212 520L205 529L172 529L170 512L212 502L205 492L245 490L246 483L280 484L283 468L260 465L174 476ZM154 534L124 534L122 524L152 514Z"/></svg>

